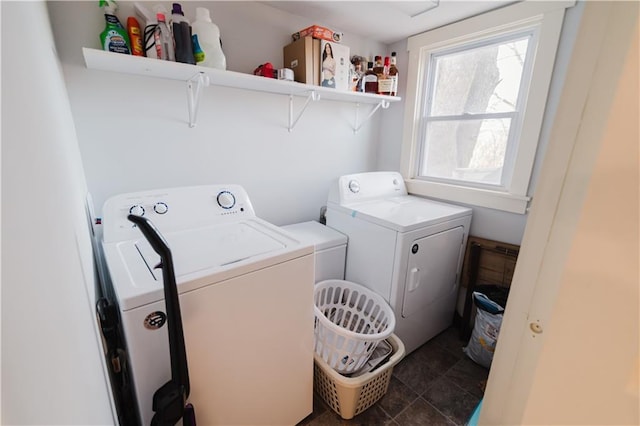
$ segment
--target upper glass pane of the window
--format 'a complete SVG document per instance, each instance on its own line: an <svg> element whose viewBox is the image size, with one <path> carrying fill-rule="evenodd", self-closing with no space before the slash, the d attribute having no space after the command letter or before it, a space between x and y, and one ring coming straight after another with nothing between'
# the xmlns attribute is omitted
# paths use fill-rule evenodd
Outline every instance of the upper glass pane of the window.
<svg viewBox="0 0 640 426"><path fill-rule="evenodd" d="M529 37L434 57L431 116L516 109Z"/></svg>

